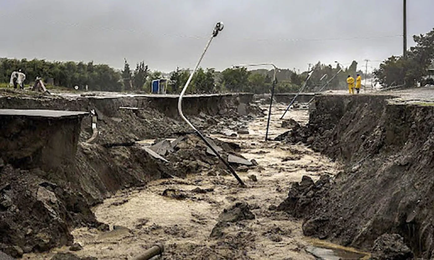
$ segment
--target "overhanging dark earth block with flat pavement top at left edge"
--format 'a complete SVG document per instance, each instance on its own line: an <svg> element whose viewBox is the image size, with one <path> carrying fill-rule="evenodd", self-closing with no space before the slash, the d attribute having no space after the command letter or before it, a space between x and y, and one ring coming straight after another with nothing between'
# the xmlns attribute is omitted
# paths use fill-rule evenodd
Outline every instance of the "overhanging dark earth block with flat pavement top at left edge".
<svg viewBox="0 0 434 260"><path fill-rule="evenodd" d="M85 112L0 110L3 163L45 171L74 162Z"/></svg>

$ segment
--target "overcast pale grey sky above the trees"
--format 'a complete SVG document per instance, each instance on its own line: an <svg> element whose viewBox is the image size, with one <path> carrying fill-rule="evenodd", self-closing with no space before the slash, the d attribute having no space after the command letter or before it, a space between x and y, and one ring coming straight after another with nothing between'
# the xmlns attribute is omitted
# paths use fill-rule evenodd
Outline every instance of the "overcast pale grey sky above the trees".
<svg viewBox="0 0 434 260"><path fill-rule="evenodd" d="M433 29L434 0L407 2L411 46ZM201 65L218 70L362 65L402 52L402 0L0 0L0 57L191 68L217 21L224 30Z"/></svg>

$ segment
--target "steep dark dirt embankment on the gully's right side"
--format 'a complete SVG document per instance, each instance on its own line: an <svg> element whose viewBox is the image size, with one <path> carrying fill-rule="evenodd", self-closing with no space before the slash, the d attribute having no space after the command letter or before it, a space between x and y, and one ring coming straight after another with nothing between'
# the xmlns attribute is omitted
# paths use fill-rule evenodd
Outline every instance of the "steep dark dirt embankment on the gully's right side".
<svg viewBox="0 0 434 260"><path fill-rule="evenodd" d="M429 259L434 256L434 107L388 104L388 98L316 98L309 124L299 130L309 138L295 141L346 168L322 187L291 188L281 209L305 219L305 234L363 248L382 234L400 234L416 256ZM309 211L297 210L306 203Z"/></svg>

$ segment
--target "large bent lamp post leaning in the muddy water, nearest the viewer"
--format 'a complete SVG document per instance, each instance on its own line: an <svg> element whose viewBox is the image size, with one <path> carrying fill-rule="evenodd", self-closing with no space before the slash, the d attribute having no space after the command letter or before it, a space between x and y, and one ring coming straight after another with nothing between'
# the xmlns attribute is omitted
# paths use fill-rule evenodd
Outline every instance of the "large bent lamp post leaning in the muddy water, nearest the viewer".
<svg viewBox="0 0 434 260"><path fill-rule="evenodd" d="M192 123L190 123L190 121L188 121L188 119L184 116L184 114L182 113L182 97L185 94L185 91L187 90L188 84L190 84L191 79L193 78L194 73L196 72L197 68L199 67L199 64L202 61L202 58L204 58L205 52L207 52L208 47L210 46L212 40L214 39L214 37L216 37L218 35L218 33L223 30L223 23L217 23L216 26L214 27L214 31L210 37L210 39L208 40L207 45L205 46L204 52L202 52L201 57L199 58L199 60L197 61L196 67L194 67L194 70L191 72L190 77L188 77L187 82L185 83L184 88L181 91L181 94L179 95L179 99L178 99L178 112L179 115L181 116L181 118L191 127L191 129L193 129L196 134L204 141L204 143L214 152L214 154L224 163L224 165L226 165L227 169L229 169L230 173L232 173L232 175L235 177L235 179L237 179L237 181L240 183L241 186L245 187L246 185L244 184L243 180L240 179L240 177L237 175L237 172L235 172L235 170L232 168L232 166L230 166L229 162L227 162L226 160L223 159L223 157L220 156L220 154L216 151L216 149L208 142L208 140L205 138L204 135L202 135L201 132L199 132L199 130L196 129L196 127L194 127L194 125Z"/></svg>

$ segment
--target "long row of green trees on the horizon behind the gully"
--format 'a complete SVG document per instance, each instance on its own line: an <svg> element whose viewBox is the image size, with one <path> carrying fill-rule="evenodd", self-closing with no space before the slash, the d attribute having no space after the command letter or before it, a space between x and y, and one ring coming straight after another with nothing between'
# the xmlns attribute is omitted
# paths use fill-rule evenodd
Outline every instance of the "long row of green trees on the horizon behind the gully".
<svg viewBox="0 0 434 260"><path fill-rule="evenodd" d="M355 75L357 62L345 68L325 89L346 89L347 74ZM12 71L21 70L26 74L26 84L32 84L36 77L41 77L49 84L72 89L88 86L93 91L151 91L151 82L163 78L161 71L151 71L144 61L132 69L125 59L124 68L116 70L109 65L93 62L49 62L46 60L18 60L0 58L0 82L9 82ZM312 76L305 91L319 90L339 71L339 65L325 65L318 62L313 67ZM168 75L167 92L178 94L189 78L191 70L176 68ZM250 92L255 94L270 93L273 84L273 70L247 68L227 68L216 71L214 68L199 68L192 78L187 93L205 94L221 92ZM296 73L295 70L277 69L275 92L287 93L298 91L304 84L308 71ZM327 75L327 77L324 77ZM321 80L322 79L322 80Z"/></svg>

